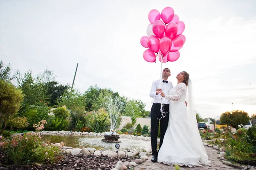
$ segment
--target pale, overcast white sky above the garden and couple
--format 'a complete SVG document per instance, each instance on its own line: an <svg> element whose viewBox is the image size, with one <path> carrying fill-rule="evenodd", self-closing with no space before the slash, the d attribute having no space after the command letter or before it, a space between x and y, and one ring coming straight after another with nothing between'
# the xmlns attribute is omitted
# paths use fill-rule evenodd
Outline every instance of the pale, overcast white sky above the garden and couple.
<svg viewBox="0 0 256 170"><path fill-rule="evenodd" d="M185 23L180 58L163 63L169 81L189 73L197 112L215 118L233 109L256 113L254 0L0 0L0 60L13 72L51 70L81 92L111 88L150 111L161 63L143 59L148 12L170 6Z"/></svg>

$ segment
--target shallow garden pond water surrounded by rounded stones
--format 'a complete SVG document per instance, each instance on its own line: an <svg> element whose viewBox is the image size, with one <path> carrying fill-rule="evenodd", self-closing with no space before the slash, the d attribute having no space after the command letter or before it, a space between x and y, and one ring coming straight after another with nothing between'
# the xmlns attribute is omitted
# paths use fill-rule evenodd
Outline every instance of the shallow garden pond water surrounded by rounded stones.
<svg viewBox="0 0 256 170"><path fill-rule="evenodd" d="M114 150L115 143L106 143L101 141L102 137L93 136L74 136L74 135L44 135L44 141L49 141L50 143L60 143L63 141L65 146L73 148L82 147L93 147L96 150ZM119 138L120 149L119 150L140 150L144 148L145 150L151 149L150 141L134 140L128 138Z"/></svg>

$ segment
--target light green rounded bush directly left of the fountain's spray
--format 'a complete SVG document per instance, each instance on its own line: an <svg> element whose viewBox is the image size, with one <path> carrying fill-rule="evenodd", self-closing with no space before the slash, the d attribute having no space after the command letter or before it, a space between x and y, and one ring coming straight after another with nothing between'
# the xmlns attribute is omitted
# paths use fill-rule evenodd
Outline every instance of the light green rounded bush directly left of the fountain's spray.
<svg viewBox="0 0 256 170"><path fill-rule="evenodd" d="M98 109L96 112L88 112L85 115L86 127L93 132L109 132L110 118L104 108Z"/></svg>

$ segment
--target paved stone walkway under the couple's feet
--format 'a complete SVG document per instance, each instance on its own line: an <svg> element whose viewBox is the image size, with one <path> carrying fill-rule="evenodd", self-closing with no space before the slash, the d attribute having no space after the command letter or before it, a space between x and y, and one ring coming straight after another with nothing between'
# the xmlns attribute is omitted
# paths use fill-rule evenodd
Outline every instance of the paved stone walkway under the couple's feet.
<svg viewBox="0 0 256 170"><path fill-rule="evenodd" d="M208 158L211 161L211 164L202 167L180 167L180 170L239 170L234 167L227 166L222 164L218 156L218 151L213 149L212 147L205 147L207 152ZM138 166L134 167L134 170L175 170L174 166L169 166L163 163L158 162L151 162L152 156L148 157L143 164L139 164Z"/></svg>

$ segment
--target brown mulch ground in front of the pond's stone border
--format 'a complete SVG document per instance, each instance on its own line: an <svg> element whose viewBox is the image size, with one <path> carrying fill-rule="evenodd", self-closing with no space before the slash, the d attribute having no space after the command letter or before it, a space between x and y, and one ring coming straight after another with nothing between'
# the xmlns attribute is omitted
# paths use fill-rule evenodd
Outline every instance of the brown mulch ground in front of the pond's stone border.
<svg viewBox="0 0 256 170"><path fill-rule="evenodd" d="M0 153L0 157L3 156ZM3 160L3 157L1 158ZM0 170L111 170L116 167L118 161L134 161L137 159L133 158L108 158L104 156L72 156L65 155L58 163L54 164L31 164L31 165L20 165L15 164L4 166L3 161L0 161Z"/></svg>

